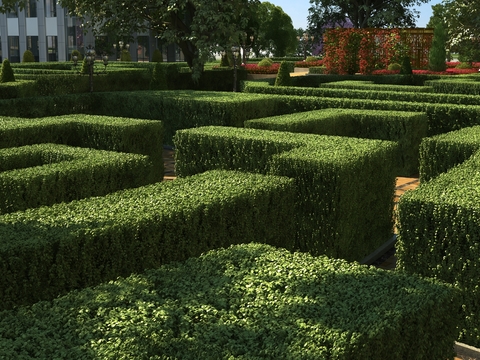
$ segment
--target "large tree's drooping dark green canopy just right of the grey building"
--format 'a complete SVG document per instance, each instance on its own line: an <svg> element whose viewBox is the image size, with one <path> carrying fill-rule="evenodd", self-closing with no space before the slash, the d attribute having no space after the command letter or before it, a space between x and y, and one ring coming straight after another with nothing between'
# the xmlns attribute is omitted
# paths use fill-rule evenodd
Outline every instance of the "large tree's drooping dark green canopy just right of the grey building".
<svg viewBox="0 0 480 360"><path fill-rule="evenodd" d="M2 0L0 11L28 0ZM96 33L130 35L151 30L177 43L194 74L213 52L237 44L248 26L249 6L259 0L59 0Z"/></svg>

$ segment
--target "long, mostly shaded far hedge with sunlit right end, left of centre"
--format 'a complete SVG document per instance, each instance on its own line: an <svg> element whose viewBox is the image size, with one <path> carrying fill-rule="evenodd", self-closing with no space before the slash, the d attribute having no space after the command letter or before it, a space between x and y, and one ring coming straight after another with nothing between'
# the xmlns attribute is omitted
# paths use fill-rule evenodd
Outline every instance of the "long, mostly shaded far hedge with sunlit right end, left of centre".
<svg viewBox="0 0 480 360"><path fill-rule="evenodd" d="M71 113L162 120L164 144L178 129L221 125L243 127L245 120L278 114L269 95L207 91L136 91L0 100L0 115L44 117Z"/></svg>

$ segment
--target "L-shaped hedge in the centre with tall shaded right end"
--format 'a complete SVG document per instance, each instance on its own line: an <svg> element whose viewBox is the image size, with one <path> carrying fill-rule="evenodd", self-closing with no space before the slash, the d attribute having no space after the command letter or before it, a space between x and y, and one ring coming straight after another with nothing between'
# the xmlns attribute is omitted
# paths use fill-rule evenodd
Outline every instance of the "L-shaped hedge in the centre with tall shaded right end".
<svg viewBox="0 0 480 360"><path fill-rule="evenodd" d="M296 249L361 260L392 235L394 142L218 126L177 131L174 142L180 177L231 169L294 178Z"/></svg>

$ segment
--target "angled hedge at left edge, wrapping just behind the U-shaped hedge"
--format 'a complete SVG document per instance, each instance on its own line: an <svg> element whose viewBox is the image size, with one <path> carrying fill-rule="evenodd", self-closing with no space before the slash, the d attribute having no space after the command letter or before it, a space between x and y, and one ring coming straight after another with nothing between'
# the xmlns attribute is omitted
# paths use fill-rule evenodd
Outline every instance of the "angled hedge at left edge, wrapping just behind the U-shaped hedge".
<svg viewBox="0 0 480 360"><path fill-rule="evenodd" d="M56 143L147 155L158 181L164 172L163 136L161 121L92 115L0 118L0 148Z"/></svg>

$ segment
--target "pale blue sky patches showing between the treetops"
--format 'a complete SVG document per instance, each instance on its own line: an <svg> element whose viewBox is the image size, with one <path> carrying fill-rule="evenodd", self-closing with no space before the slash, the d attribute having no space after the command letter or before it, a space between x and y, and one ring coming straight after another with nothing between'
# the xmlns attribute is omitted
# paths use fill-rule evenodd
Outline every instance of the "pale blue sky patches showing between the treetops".
<svg viewBox="0 0 480 360"><path fill-rule="evenodd" d="M280 6L292 19L293 27L295 29L307 28L310 0L268 0L268 2ZM420 18L417 19L417 27L426 27L430 20L430 16L432 16L432 5L436 5L440 2L441 0L430 0L428 3L422 4L416 8L416 10L420 11Z"/></svg>

